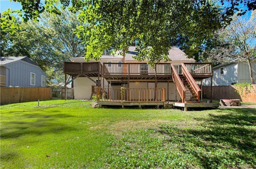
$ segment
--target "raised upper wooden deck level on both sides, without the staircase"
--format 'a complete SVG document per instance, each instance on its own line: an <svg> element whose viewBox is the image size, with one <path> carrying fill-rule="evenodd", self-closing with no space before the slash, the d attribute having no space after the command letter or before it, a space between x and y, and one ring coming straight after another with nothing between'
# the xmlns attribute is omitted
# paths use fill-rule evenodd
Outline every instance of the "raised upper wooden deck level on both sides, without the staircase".
<svg viewBox="0 0 256 169"><path fill-rule="evenodd" d="M212 76L211 63L184 63L195 80ZM64 62L64 73L73 77L104 77L112 83L172 81L170 63L156 63L154 67L146 63L103 63Z"/></svg>

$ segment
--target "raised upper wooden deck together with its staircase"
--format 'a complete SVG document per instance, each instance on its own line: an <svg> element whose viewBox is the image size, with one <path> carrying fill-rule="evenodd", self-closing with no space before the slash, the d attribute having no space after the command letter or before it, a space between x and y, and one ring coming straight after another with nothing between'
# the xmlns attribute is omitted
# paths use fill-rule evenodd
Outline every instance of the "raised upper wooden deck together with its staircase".
<svg viewBox="0 0 256 169"><path fill-rule="evenodd" d="M196 81L202 81L202 79L212 77L212 63L182 63L182 65L172 65L172 63L155 63L153 67L151 67L147 63L101 64L100 62L64 62L64 73L65 85L74 81L77 77L87 77L98 87L101 87L101 85L104 84L104 81L107 81L110 86L122 86L127 84L128 88L130 87L131 82L150 82L155 83L155 90L158 82L174 82L182 98L182 102L187 101L186 99L188 94L190 95L190 100L194 99L199 102L201 89L198 84L196 84ZM72 79L67 79L66 75L70 75ZM98 81L92 77L98 77ZM102 84L100 83L100 79L103 79ZM143 90L145 95L146 90L148 89ZM108 97L111 97L111 92L106 91L106 93L108 93ZM159 93L160 92L158 92L158 94ZM157 93L154 98L157 97L156 95ZM126 96L130 95L127 94ZM162 97L162 95L158 97ZM116 98L113 98L112 100L116 100ZM132 102L132 100L136 100L136 98L130 98L130 100L126 101ZM166 101L162 98L158 100ZM147 102L148 99L144 101Z"/></svg>

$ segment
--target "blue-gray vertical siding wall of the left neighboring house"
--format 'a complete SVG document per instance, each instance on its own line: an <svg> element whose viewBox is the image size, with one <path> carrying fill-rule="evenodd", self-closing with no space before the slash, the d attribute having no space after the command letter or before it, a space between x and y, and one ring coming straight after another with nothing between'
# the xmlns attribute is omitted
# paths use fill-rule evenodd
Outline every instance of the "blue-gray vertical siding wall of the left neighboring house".
<svg viewBox="0 0 256 169"><path fill-rule="evenodd" d="M42 76L46 77L40 67L25 61L17 61L5 66L9 69L9 72L6 72L6 86L40 87ZM30 73L36 74L35 85L30 85Z"/></svg>

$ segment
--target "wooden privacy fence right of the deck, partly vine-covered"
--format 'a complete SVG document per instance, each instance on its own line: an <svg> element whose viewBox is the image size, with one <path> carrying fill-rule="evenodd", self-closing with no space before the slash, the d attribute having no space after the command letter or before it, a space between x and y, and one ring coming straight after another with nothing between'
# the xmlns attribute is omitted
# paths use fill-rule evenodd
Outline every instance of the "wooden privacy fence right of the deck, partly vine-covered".
<svg viewBox="0 0 256 169"><path fill-rule="evenodd" d="M210 99L211 97L211 86L203 86L203 98ZM219 99L241 99L243 102L251 102L256 103L256 84L253 85L253 89L250 91L250 93L242 94L240 96L236 92L236 86L212 86L212 98L214 100Z"/></svg>

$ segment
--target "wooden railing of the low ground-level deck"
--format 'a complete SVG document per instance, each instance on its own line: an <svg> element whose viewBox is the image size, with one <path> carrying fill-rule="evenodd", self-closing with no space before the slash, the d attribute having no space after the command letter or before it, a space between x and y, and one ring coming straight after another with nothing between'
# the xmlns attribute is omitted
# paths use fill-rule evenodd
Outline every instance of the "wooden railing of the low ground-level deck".
<svg viewBox="0 0 256 169"><path fill-rule="evenodd" d="M101 92L101 91L105 92ZM106 102L165 102L165 88L97 88L97 100Z"/></svg>

